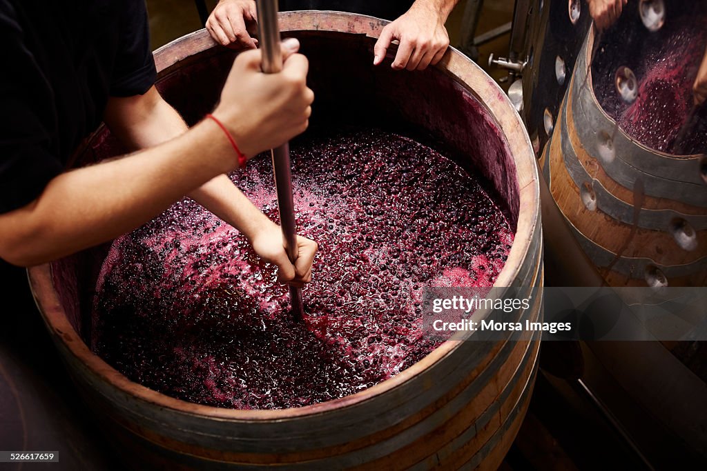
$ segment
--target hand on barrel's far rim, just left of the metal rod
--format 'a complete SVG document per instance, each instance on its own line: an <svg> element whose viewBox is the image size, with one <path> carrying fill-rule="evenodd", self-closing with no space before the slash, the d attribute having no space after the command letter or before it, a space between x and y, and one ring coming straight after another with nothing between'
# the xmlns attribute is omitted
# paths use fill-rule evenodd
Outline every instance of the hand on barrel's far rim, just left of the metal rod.
<svg viewBox="0 0 707 471"><path fill-rule="evenodd" d="M221 0L206 20L206 29L223 46L255 49L258 40L250 37L250 33L255 33L256 21L255 1Z"/></svg>

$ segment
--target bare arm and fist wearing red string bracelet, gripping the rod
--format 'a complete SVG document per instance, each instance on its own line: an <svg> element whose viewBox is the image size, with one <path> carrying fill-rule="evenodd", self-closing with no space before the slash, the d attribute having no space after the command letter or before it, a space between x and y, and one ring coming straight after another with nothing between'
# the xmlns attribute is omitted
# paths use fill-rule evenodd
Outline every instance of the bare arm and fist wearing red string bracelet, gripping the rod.
<svg viewBox="0 0 707 471"><path fill-rule="evenodd" d="M260 57L238 56L214 111L247 157L303 132L313 100L304 56L270 75ZM223 130L204 121L156 147L65 172L28 205L0 214L0 258L32 266L112 239L237 166Z"/></svg>

